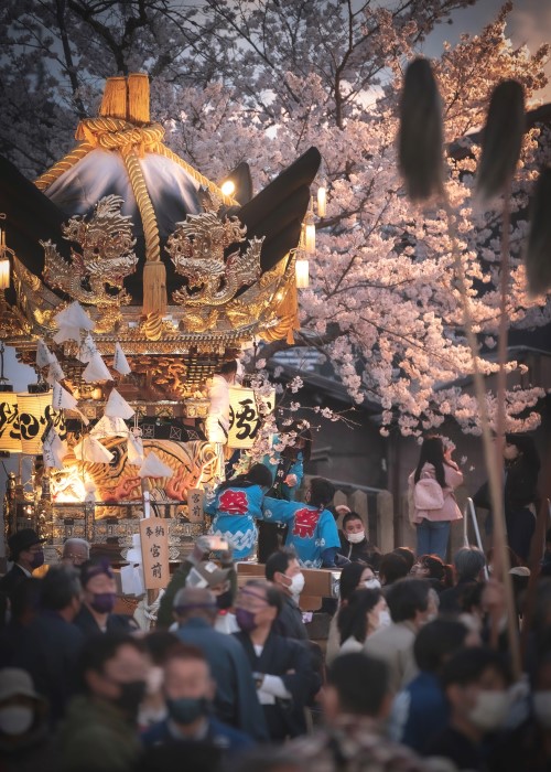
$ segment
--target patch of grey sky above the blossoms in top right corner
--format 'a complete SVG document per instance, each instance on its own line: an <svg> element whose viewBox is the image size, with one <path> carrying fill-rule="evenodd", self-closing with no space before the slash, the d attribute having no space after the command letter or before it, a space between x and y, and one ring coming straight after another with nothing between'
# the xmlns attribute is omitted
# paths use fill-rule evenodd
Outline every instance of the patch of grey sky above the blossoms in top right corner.
<svg viewBox="0 0 551 772"><path fill-rule="evenodd" d="M474 6L462 8L452 14L452 24L439 24L424 44L424 53L434 56L442 52L444 41L456 43L460 36L468 32L477 34L498 14L505 0L478 0ZM530 51L536 51L542 43L551 42L551 0L514 0L514 8L508 18L506 34L515 46L526 43ZM551 82L551 62L545 66ZM551 83L538 95L542 101L551 101Z"/></svg>

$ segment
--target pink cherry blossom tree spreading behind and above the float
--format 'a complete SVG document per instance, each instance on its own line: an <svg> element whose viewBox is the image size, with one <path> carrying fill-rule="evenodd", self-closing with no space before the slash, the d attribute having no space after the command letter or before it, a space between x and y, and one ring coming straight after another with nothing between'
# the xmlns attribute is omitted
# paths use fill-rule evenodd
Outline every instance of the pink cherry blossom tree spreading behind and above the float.
<svg viewBox="0 0 551 772"><path fill-rule="evenodd" d="M465 4L50 0L36 10L32 2L7 3L0 31L17 67L1 65L9 106L0 147L30 175L42 171L71 146L76 118L94 111L100 79L138 68L152 74L152 116L164 124L168 142L214 180L245 160L261 187L315 144L329 197L295 343L322 351L357 403L367 396L380 404L383 432L397 423L418 433L449 415L478 432L475 400L455 385L472 363L446 217L437 205L411 206L396 160L404 64L435 23ZM479 149L466 135L484 122L500 79L516 78L530 99L544 85L548 56L547 46L511 46L509 11L507 3L479 35L446 46L434 63L451 148L447 196L488 375L496 369L500 216L499 207L484 211L474 201ZM551 319L549 300L528 298L521 264L530 187L549 154L547 129L527 132L511 197L509 318L526 329ZM285 345L270 344L262 356ZM515 362L508 367L518 372ZM508 393L511 430L537 425L543 394L537 384ZM495 397L488 400L493 412Z"/></svg>

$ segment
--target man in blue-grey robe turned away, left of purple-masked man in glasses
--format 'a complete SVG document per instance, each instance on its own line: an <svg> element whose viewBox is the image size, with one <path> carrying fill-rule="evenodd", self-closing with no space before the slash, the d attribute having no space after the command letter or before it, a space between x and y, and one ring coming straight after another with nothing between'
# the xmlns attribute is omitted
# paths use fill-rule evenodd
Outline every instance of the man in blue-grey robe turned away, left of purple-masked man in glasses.
<svg viewBox="0 0 551 772"><path fill-rule="evenodd" d="M184 587L174 598L175 635L204 652L216 682L213 706L217 718L257 740L266 740L268 731L252 671L235 637L214 629L217 614L216 598L209 589Z"/></svg>

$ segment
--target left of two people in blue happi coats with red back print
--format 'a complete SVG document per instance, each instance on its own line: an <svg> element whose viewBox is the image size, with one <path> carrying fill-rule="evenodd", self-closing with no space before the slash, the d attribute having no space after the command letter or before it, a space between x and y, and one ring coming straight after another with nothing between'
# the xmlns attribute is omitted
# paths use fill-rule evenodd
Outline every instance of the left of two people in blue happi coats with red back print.
<svg viewBox="0 0 551 772"><path fill-rule="evenodd" d="M272 475L261 463L253 464L245 474L218 485L205 513L213 517L210 533L226 539L236 560L249 558L255 550L257 526L255 518L262 516L264 495L272 486Z"/></svg>

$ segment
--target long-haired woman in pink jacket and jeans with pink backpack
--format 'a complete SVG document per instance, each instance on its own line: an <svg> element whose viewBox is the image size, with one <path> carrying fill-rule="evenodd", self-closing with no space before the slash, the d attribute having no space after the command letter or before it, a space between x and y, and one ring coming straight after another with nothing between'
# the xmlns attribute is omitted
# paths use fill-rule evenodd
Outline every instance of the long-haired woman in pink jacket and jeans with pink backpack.
<svg viewBox="0 0 551 772"><path fill-rule="evenodd" d="M428 437L419 463L409 476L410 517L417 526L417 554L446 559L451 523L462 519L454 490L463 474L442 437Z"/></svg>

